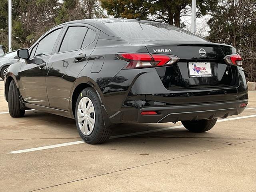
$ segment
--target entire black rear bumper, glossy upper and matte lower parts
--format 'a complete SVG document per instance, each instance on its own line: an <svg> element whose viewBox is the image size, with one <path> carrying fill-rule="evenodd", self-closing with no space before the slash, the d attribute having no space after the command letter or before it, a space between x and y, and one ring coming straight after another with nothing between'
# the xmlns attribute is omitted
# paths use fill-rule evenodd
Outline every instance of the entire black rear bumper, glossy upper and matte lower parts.
<svg viewBox="0 0 256 192"><path fill-rule="evenodd" d="M140 70L121 70L108 89L103 89L104 106L112 123L226 118L240 114L244 110L240 104L248 103L242 68L234 86L182 90L167 90L153 68L136 71ZM143 111L157 114L141 115Z"/></svg>

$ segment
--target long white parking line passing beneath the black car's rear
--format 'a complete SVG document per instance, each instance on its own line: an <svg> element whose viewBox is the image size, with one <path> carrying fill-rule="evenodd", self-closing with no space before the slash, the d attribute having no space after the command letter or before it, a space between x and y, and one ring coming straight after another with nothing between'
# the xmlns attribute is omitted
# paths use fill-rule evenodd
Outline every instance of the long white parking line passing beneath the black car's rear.
<svg viewBox="0 0 256 192"><path fill-rule="evenodd" d="M227 118L227 119L219 119L217 122L231 121L231 120L251 118L251 117L256 117L256 115L248 115L248 116L241 116L241 117L234 117L234 118ZM140 134L147 134L147 133L159 132L159 131L165 131L165 130L172 130L172 129L178 129L178 128L182 128L182 127L183 127L182 125L179 125L179 126L166 127L166 128L161 128L161 129L154 129L154 130L150 130L150 131L141 131L141 132L135 132L135 133L128 133L128 134L111 136L110 139L120 138L120 137L127 137L127 136L134 136L134 135L140 135ZM38 150L44 150L44 149L51 149L51 148L56 148L56 147L76 145L76 144L81 144L81 143L84 143L84 141L75 141L75 142L68 142L68 143L62 143L62 144L56 144L56 145L48 145L48 146L36 147L36 148L30 148L30 149L24 149L24 150L18 150L18 151L10 151L10 153L18 154L18 153L38 151Z"/></svg>

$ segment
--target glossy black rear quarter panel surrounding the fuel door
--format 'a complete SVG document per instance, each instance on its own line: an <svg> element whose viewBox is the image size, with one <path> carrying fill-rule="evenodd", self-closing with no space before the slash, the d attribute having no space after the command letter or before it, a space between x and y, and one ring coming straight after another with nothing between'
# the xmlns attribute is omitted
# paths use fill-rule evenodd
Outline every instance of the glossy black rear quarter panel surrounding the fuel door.
<svg viewBox="0 0 256 192"><path fill-rule="evenodd" d="M148 50L145 46L131 45L128 41L98 39L96 48L90 56L90 60L79 74L74 86L75 88L82 82L92 84L100 94L102 103L106 107L107 112L111 110L111 105L113 101L115 101L112 96L116 95L118 97L120 92L122 92L122 90L124 91L122 87L119 88L120 91L117 91L113 86L108 87L108 84L110 82L113 83L113 79L116 79L118 83L129 81L122 76L116 76L127 63L116 57L116 54L120 52L148 52ZM104 64L99 72L91 72L96 57L104 57Z"/></svg>

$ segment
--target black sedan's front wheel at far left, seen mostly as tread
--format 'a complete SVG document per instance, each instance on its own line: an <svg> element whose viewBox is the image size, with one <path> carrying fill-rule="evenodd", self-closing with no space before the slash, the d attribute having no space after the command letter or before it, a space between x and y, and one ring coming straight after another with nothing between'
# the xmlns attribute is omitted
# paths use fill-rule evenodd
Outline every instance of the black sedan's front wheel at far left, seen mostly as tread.
<svg viewBox="0 0 256 192"><path fill-rule="evenodd" d="M20 92L14 82L11 81L8 91L8 108L9 114L12 117L23 117L25 109L20 107Z"/></svg>

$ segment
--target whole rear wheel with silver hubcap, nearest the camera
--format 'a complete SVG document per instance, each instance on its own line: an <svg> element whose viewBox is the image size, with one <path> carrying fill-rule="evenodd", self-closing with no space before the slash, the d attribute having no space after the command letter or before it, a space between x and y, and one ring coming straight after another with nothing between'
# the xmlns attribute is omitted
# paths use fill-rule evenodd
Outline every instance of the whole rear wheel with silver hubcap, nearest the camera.
<svg viewBox="0 0 256 192"><path fill-rule="evenodd" d="M85 88L78 96L76 127L82 140L89 144L100 144L110 137L112 127L104 124L100 99L93 88Z"/></svg>

